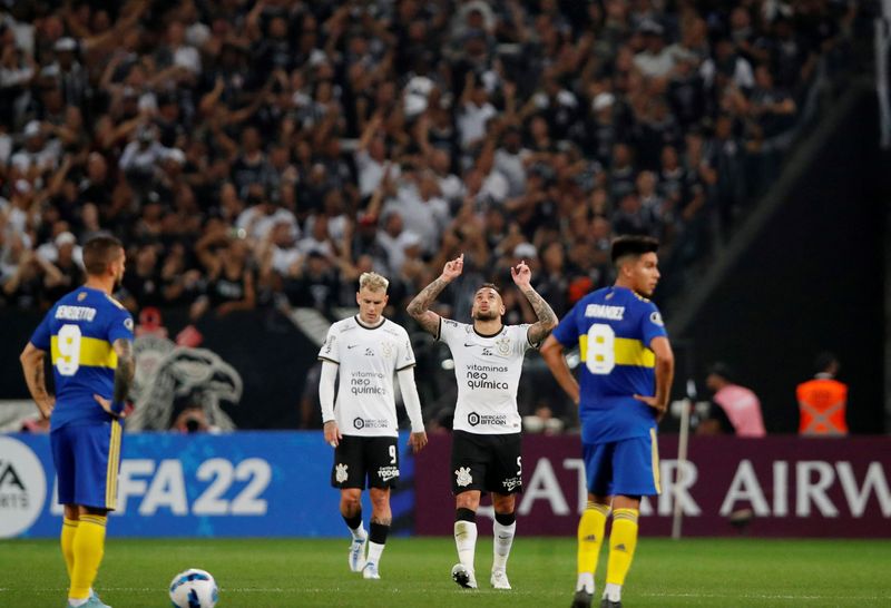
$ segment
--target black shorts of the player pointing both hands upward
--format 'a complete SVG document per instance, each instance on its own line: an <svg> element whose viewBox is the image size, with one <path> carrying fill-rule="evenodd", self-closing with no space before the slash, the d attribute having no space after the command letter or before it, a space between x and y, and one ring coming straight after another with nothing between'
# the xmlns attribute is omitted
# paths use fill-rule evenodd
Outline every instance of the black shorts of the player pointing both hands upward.
<svg viewBox="0 0 891 608"><path fill-rule="evenodd" d="M452 493L480 490L522 492L522 435L483 435L454 431L450 474Z"/></svg>

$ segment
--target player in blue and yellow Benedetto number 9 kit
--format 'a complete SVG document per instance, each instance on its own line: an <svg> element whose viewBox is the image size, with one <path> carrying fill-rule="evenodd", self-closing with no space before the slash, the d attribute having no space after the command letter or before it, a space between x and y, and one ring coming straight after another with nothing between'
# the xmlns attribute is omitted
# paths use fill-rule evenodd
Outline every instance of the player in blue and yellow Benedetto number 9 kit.
<svg viewBox="0 0 891 608"><path fill-rule="evenodd" d="M92 591L115 509L120 464L120 416L134 374L133 317L111 297L124 277L120 241L97 236L84 246L87 282L56 303L21 353L40 413L50 419L50 445L65 506L61 548L68 606L106 608ZM43 377L52 359L56 396Z"/></svg>

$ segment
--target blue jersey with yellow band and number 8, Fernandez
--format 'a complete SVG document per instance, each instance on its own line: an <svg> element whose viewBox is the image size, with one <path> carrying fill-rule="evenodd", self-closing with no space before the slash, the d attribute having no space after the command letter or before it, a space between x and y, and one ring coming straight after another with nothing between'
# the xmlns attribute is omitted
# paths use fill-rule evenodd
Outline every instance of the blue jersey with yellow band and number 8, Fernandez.
<svg viewBox="0 0 891 608"><path fill-rule="evenodd" d="M564 317L554 336L564 347L578 344L581 352L579 418L584 442L650 434L656 412L634 395L655 394L656 356L649 344L665 335L656 305L626 287L597 290Z"/></svg>

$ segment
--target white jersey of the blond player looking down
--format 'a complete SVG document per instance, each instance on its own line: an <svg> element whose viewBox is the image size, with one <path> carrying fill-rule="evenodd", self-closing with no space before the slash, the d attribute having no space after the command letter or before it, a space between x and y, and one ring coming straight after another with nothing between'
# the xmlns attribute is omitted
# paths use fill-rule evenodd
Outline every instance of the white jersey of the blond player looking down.
<svg viewBox="0 0 891 608"><path fill-rule="evenodd" d="M340 365L334 418L341 433L396 437L393 374L414 365L409 334L389 318L374 328L355 316L334 323L319 359Z"/></svg>

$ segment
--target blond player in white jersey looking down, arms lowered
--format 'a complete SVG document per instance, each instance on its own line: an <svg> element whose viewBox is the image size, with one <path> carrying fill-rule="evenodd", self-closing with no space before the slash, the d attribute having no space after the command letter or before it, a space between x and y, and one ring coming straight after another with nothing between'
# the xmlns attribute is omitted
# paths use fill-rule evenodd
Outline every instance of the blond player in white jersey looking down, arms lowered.
<svg viewBox="0 0 891 608"><path fill-rule="evenodd" d="M341 490L341 514L353 537L350 569L366 579L381 578L379 563L393 519L390 489L399 479L394 373L411 420L409 444L415 453L427 445L409 334L382 316L388 285L376 273L362 274L355 295L359 314L334 323L319 352L322 421L325 441L334 448L331 484ZM369 532L362 524L361 503L366 478L371 494Z"/></svg>

